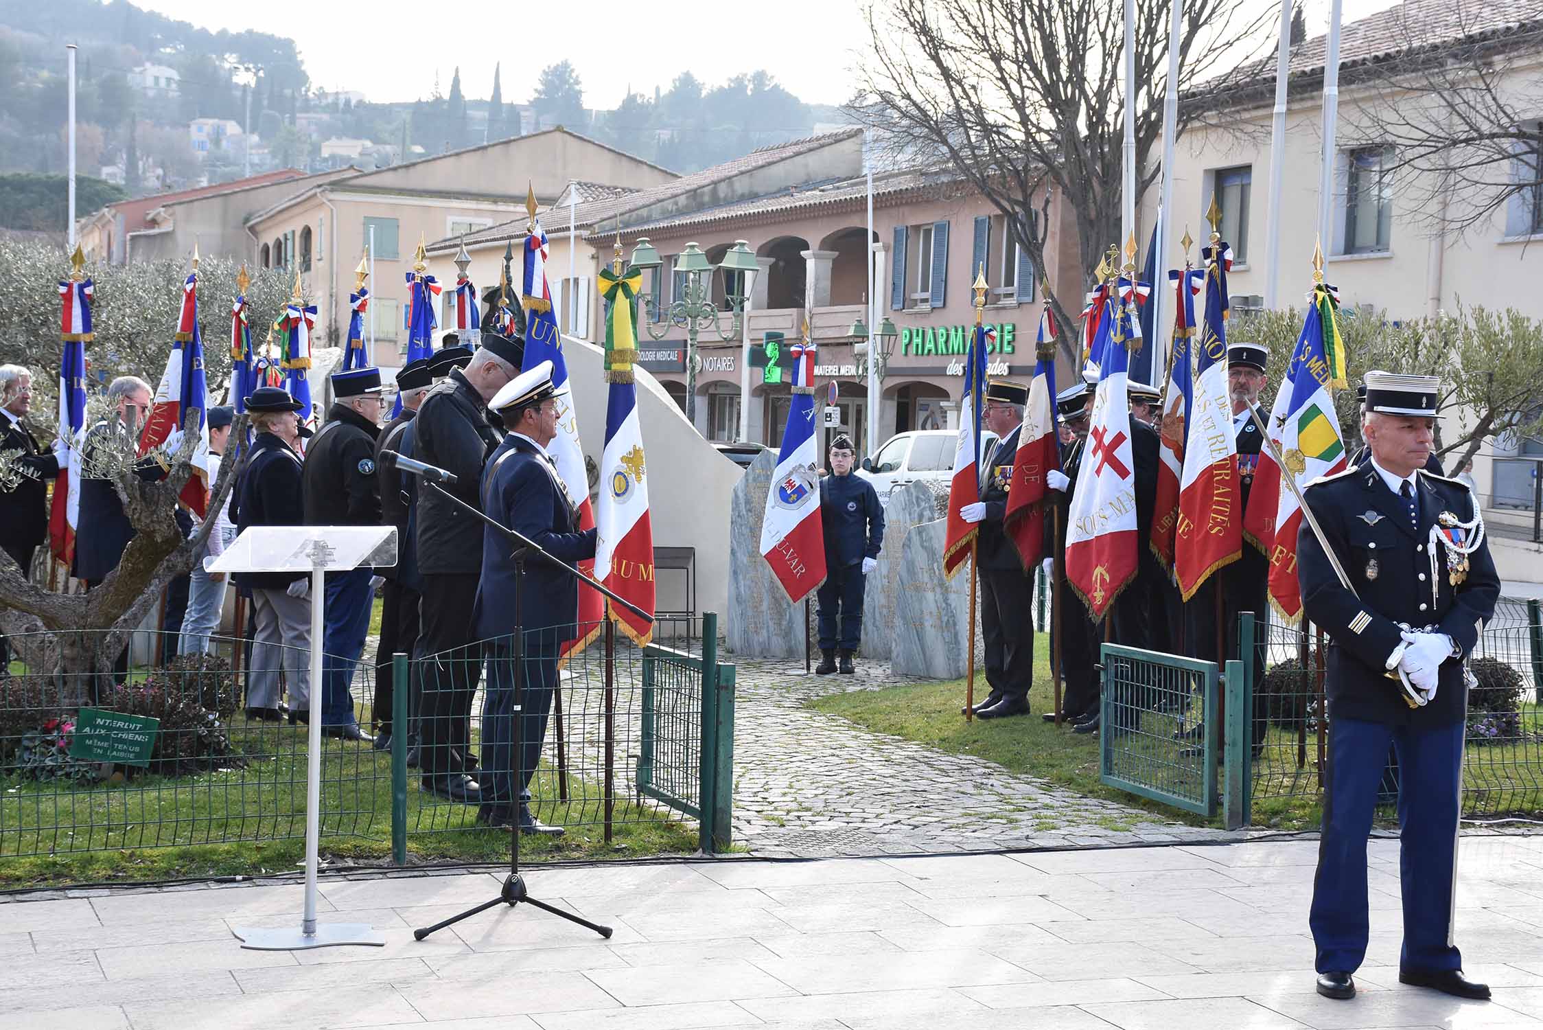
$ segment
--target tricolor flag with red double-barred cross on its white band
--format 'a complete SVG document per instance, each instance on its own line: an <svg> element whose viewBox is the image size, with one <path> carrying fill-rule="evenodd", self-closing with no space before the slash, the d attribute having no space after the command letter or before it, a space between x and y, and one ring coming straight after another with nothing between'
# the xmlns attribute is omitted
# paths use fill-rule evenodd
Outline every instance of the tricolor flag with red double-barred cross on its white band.
<svg viewBox="0 0 1543 1030"><path fill-rule="evenodd" d="M1088 449L1077 473L1066 525L1066 581L1088 605L1094 621L1136 578L1136 465L1131 451L1131 405L1126 398L1129 351L1116 340L1111 323L1128 327L1129 310L1109 310L1099 321L1094 352L1099 386L1092 397Z"/></svg>

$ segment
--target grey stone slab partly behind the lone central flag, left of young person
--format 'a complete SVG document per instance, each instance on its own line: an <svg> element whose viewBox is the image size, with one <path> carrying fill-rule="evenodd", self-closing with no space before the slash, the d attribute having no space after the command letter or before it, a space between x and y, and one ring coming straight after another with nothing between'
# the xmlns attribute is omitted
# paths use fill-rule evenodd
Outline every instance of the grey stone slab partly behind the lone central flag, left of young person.
<svg viewBox="0 0 1543 1030"><path fill-rule="evenodd" d="M776 451L762 451L734 486L728 514L728 650L750 658L804 656L804 604L787 599L782 584L761 557Z"/></svg>

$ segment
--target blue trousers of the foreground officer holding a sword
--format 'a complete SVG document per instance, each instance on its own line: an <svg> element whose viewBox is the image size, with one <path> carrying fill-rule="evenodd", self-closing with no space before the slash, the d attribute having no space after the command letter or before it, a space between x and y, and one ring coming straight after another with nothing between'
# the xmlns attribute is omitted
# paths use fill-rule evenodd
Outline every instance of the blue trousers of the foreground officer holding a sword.
<svg viewBox="0 0 1543 1030"><path fill-rule="evenodd" d="M1398 880L1404 897L1406 970L1457 970L1452 945L1452 877L1463 784L1461 721L1412 727L1335 718L1329 727L1329 780L1318 877L1308 919L1319 973L1353 973L1366 957L1366 839L1392 743L1398 752Z"/></svg>

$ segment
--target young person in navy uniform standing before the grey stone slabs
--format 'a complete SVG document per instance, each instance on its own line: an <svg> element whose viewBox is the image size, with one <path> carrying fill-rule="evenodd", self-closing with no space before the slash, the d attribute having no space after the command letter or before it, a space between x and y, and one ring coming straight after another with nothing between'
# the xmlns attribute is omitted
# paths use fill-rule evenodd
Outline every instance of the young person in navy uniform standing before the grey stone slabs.
<svg viewBox="0 0 1543 1030"><path fill-rule="evenodd" d="M815 675L855 673L852 656L863 639L863 593L884 547L884 505L873 483L852 474L856 448L847 434L830 442L830 476L819 480L819 520L826 533L826 582L819 599L819 666ZM838 635L839 625L839 635Z"/></svg>

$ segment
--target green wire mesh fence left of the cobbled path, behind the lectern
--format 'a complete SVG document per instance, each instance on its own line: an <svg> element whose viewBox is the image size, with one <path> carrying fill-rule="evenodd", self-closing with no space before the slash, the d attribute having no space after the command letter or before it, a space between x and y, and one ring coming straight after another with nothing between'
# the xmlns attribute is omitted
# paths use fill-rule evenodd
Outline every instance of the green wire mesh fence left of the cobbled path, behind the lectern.
<svg viewBox="0 0 1543 1030"><path fill-rule="evenodd" d="M731 667L716 662L716 625L705 618L707 641L702 618L673 619L657 625L662 644L650 649L599 625L585 627L593 641L566 656L551 632L531 632L518 662L506 638L383 667L409 684L393 698L401 734L386 746L353 740L343 724L322 727L321 834L389 845L398 860L409 839L435 837L434 854L454 859L443 831L497 837L488 826L506 829L525 808L543 823L589 828L605 843L642 834L643 849L688 848L690 817L707 826L705 846L727 845L727 814L716 839L711 832L727 788L707 795L717 806L701 817L704 769L713 774L708 786L719 769L727 778L733 738L708 732L711 763L704 763L704 712L714 729L733 718ZM99 653L100 633L6 641L0 859L304 837L312 684L298 670L309 669L309 649L253 655L250 641L216 636L208 653L177 656L176 641L136 632L111 655ZM324 656L329 669L346 664ZM515 669L526 672L522 687L531 684L522 698L523 749L514 747ZM392 721L373 709L375 679L370 661L353 664L352 704L329 695L329 712L350 706L366 729ZM650 781L668 794L642 789L645 741ZM469 772L478 789L446 791L451 767Z"/></svg>

